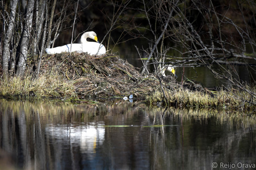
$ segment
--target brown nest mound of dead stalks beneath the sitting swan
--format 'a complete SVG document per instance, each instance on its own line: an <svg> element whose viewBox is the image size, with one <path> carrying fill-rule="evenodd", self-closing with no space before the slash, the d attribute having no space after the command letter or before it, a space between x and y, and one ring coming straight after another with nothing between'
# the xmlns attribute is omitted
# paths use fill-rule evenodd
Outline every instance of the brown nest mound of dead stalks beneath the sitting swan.
<svg viewBox="0 0 256 170"><path fill-rule="evenodd" d="M113 54L46 54L42 58L40 74L49 70L55 70L54 73L62 76L64 81L72 81L78 97L84 98L124 97L131 94L144 98L160 88L155 76L140 75L138 68ZM176 80L172 76L165 79L164 89L175 89Z"/></svg>

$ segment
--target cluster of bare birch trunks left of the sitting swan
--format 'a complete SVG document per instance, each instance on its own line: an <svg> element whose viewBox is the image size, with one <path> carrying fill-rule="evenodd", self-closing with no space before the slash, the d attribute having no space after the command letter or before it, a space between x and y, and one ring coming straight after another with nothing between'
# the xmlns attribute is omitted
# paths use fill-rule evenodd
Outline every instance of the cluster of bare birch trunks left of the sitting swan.
<svg viewBox="0 0 256 170"><path fill-rule="evenodd" d="M44 0L11 0L5 4L1 3L0 26L3 31L1 34L1 45L3 45L3 48L1 48L3 54L1 66L3 68L3 78L8 78L8 72L23 77L26 62L30 56L35 63L33 69L36 69L36 74L34 75L38 75L45 45L54 43L61 31L62 23L67 20L68 15L66 14L69 6L65 2L66 0L63 4L61 2L57 4L57 1L53 1L53 4L49 5L51 6L51 12L48 11L48 2ZM59 13L55 14L54 12L56 5L58 5L58 10L61 10L60 17L58 17ZM5 11L5 9L7 10ZM16 13L19 15L16 15ZM35 13L34 16L33 13ZM49 13L51 17L48 19ZM56 20L54 20L55 17ZM55 33L53 40L51 40L52 33ZM45 40L46 36L48 36L47 40Z"/></svg>

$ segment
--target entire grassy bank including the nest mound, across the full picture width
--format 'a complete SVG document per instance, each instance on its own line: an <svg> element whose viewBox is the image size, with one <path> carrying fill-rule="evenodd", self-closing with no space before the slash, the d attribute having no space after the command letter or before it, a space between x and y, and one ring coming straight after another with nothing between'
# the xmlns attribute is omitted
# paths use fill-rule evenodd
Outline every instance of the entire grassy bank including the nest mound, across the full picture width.
<svg viewBox="0 0 256 170"><path fill-rule="evenodd" d="M37 60L28 60L24 79L13 77L0 82L0 96L11 99L61 98L83 102L92 99L146 99L149 105L174 107L219 108L251 111L254 105L245 102L250 95L231 89L209 91L201 84L174 76L142 76L139 69L118 55L90 56L87 53L45 54L37 78L33 77ZM181 89L182 87L182 89ZM255 91L255 89L253 89ZM238 100L243 98L244 101Z"/></svg>

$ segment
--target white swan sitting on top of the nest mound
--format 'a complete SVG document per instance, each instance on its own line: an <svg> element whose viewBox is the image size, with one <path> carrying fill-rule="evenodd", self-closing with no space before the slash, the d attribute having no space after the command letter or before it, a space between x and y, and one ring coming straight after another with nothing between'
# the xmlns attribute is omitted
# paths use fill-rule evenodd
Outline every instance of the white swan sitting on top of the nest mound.
<svg viewBox="0 0 256 170"><path fill-rule="evenodd" d="M94 39L97 42L89 42L86 39L91 38ZM45 51L48 54L55 54L55 53L61 53L61 52L70 52L70 46L71 44L67 44L65 46L58 46L55 48L46 48ZM100 47L100 50L98 52L98 49ZM105 54L106 48L102 44L100 45L98 38L96 36L96 33L93 31L85 32L81 37L81 44L72 44L71 52L77 51L79 53L88 53L90 55L95 55L97 52L98 54Z"/></svg>

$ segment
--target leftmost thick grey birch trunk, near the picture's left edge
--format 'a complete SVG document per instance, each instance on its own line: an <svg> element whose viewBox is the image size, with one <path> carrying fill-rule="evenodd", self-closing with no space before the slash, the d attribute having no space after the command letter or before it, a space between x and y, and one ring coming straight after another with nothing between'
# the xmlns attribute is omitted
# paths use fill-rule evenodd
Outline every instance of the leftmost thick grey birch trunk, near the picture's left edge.
<svg viewBox="0 0 256 170"><path fill-rule="evenodd" d="M2 69L3 69L4 79L8 79L8 61L10 60L10 41L12 38L12 31L15 23L15 14L16 14L17 4L18 4L18 0L12 0L9 26L4 38L3 60L2 60Z"/></svg>

